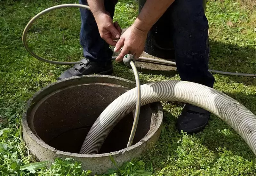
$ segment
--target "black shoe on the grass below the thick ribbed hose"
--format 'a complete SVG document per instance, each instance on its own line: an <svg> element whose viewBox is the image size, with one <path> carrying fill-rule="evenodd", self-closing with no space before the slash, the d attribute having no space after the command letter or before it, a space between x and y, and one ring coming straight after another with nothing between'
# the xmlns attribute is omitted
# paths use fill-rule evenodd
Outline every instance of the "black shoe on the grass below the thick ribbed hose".
<svg viewBox="0 0 256 176"><path fill-rule="evenodd" d="M204 129L210 119L210 112L191 104L185 104L177 119L179 131L196 133Z"/></svg>

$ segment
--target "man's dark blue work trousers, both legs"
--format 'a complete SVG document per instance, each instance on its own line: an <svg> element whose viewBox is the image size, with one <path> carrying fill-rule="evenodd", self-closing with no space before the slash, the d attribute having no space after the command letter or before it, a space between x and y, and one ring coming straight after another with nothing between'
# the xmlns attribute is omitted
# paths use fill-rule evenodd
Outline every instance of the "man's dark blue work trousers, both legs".
<svg viewBox="0 0 256 176"><path fill-rule="evenodd" d="M104 0L105 9L113 18L117 0ZM79 0L87 4L86 0ZM100 37L96 21L89 10L80 9L80 43L84 57L92 61L108 62L113 52ZM175 61L181 80L213 87L214 77L208 72L208 20L202 0L176 0L165 12L170 15Z"/></svg>

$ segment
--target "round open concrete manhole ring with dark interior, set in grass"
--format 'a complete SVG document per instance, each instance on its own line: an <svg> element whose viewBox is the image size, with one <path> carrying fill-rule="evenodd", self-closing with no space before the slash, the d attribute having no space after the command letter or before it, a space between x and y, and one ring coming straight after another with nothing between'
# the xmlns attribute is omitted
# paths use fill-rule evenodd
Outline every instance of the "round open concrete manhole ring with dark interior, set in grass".
<svg viewBox="0 0 256 176"><path fill-rule="evenodd" d="M126 148L133 113L125 116L111 131L100 153L79 154L82 143L100 113L118 96L134 88L130 80L115 76L71 77L49 84L28 101L23 114L23 138L39 161L73 158L82 169L102 174L155 145L159 138L163 110L159 102L141 107L133 145Z"/></svg>

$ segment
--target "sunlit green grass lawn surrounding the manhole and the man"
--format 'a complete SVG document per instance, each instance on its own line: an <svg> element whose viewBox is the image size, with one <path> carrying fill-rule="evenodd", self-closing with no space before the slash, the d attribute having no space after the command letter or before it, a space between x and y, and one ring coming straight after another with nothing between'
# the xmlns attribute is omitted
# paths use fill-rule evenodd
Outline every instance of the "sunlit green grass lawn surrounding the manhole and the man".
<svg viewBox="0 0 256 176"><path fill-rule="evenodd" d="M67 1L0 0L0 175L89 175L72 159L56 161L50 168L35 163L22 140L20 116L26 101L69 66L36 60L23 47L21 36L28 21L45 8ZM254 3L254 6L252 5ZM250 4L250 6L248 6ZM210 33L210 68L255 73L256 8L254 0L210 0L206 15ZM115 20L122 28L132 24L137 3L121 0ZM29 30L32 50L47 59L75 61L79 44L79 9L61 9L36 21ZM114 75L133 79L128 68L114 64ZM214 88L228 94L256 114L256 81L252 77L214 75ZM143 83L180 79L178 75L140 74ZM156 146L140 158L106 175L256 175L256 158L244 140L216 116L203 132L180 134L175 120L182 104L162 102L164 127Z"/></svg>

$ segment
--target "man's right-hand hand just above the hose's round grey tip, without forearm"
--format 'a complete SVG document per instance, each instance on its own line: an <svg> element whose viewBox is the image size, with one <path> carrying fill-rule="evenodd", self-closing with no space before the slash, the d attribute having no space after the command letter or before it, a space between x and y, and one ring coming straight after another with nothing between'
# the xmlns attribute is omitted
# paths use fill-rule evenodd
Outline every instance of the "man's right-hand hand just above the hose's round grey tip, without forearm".
<svg viewBox="0 0 256 176"><path fill-rule="evenodd" d="M123 47L116 61L122 61L126 54L132 54L135 58L140 57L145 46L147 34L148 31L140 30L135 25L129 27L116 43L114 52L120 51Z"/></svg>

